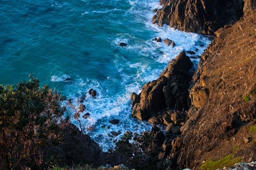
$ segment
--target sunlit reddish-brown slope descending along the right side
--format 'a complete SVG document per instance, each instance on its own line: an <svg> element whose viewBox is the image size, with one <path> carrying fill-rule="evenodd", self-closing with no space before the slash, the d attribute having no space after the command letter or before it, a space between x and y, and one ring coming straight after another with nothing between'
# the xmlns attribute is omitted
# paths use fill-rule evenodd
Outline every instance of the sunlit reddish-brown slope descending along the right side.
<svg viewBox="0 0 256 170"><path fill-rule="evenodd" d="M248 130L256 124L255 18L256 10L220 28L202 54L190 90L189 119L173 144L180 167L197 169L207 158L231 153L256 160L256 134Z"/></svg>

